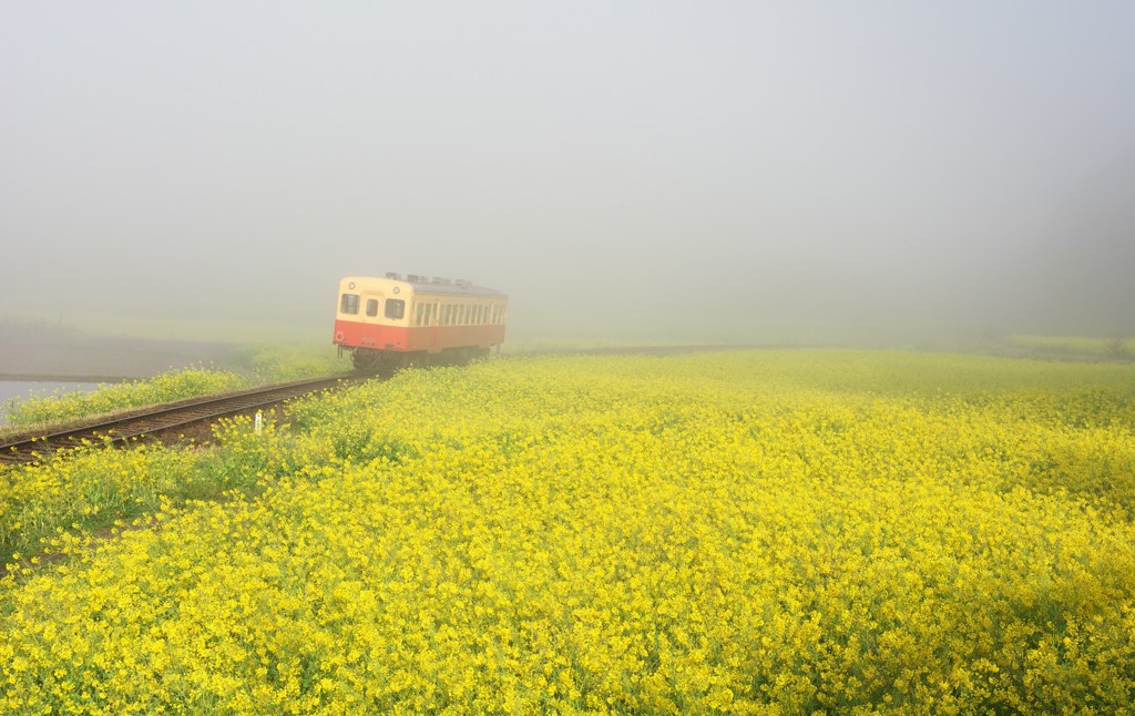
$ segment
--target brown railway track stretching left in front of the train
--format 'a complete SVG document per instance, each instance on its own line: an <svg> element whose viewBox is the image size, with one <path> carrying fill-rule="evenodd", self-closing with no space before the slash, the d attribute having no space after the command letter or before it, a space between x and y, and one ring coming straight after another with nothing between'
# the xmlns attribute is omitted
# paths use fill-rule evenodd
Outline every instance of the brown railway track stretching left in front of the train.
<svg viewBox="0 0 1135 716"><path fill-rule="evenodd" d="M361 377L338 376L277 384L222 396L194 398L153 410L83 426L18 439L0 445L0 463L30 463L42 460L60 449L77 447L85 441L120 444L140 437L155 437L171 430L182 430L218 418L236 415L276 405L288 398L335 388L343 382L356 382Z"/></svg>

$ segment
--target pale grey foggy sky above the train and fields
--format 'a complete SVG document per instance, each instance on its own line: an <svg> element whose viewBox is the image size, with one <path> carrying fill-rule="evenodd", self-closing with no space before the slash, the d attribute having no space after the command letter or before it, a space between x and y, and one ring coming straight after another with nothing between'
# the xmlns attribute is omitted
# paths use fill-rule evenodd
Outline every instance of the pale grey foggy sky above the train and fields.
<svg viewBox="0 0 1135 716"><path fill-rule="evenodd" d="M1127 0L7 1L0 318L322 337L393 270L521 334L1132 334L1133 39Z"/></svg>

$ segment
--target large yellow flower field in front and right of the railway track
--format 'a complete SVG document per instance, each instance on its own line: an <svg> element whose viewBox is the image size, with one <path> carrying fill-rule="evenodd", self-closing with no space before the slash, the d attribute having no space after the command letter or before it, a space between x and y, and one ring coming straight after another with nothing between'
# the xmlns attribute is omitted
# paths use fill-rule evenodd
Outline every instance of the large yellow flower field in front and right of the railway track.
<svg viewBox="0 0 1135 716"><path fill-rule="evenodd" d="M134 458L258 489L166 503L112 539L60 530L50 564L3 578L0 710L1117 713L1135 696L1132 365L513 357L291 421Z"/></svg>

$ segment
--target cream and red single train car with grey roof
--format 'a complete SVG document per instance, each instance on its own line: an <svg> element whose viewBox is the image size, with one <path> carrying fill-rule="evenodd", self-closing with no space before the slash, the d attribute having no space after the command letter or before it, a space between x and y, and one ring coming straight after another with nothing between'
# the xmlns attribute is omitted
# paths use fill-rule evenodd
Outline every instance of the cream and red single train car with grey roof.
<svg viewBox="0 0 1135 716"><path fill-rule="evenodd" d="M350 276L331 342L359 371L463 364L504 342L507 313L505 294L461 279Z"/></svg>

